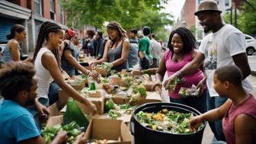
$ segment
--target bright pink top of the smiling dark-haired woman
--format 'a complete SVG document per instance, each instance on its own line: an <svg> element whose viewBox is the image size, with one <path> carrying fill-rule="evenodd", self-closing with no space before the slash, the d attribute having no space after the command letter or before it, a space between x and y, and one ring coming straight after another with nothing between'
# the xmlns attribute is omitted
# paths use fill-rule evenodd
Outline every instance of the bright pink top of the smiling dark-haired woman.
<svg viewBox="0 0 256 144"><path fill-rule="evenodd" d="M174 62L171 59L171 50L165 52L165 67L168 74L168 77L173 75L175 72L178 72L182 69L188 62L193 59L193 51L185 54L184 58L181 62ZM198 85L198 83L203 79L203 72L200 69L197 69L194 73L190 75L184 75L183 78L186 79L184 83L176 85L174 92L168 91L169 96L171 98L179 98L178 91L180 91L181 87L191 88L192 85Z"/></svg>

